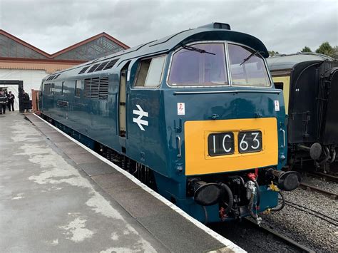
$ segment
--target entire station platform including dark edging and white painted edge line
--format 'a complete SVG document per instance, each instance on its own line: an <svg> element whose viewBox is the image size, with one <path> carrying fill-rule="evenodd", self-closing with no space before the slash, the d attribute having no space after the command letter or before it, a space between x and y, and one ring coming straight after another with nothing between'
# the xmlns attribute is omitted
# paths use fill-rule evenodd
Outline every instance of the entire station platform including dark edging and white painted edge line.
<svg viewBox="0 0 338 253"><path fill-rule="evenodd" d="M1 252L244 252L32 113L0 115Z"/></svg>

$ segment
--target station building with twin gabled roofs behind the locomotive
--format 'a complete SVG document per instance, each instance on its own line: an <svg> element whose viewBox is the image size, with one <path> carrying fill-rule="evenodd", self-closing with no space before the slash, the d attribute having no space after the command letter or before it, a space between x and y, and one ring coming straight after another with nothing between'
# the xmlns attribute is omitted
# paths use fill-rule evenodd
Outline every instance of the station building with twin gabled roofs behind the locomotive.
<svg viewBox="0 0 338 253"><path fill-rule="evenodd" d="M0 91L14 93L14 109L18 110L19 83L31 98L31 90L39 90L41 79L49 73L127 48L129 46L103 32L49 54L0 29Z"/></svg>

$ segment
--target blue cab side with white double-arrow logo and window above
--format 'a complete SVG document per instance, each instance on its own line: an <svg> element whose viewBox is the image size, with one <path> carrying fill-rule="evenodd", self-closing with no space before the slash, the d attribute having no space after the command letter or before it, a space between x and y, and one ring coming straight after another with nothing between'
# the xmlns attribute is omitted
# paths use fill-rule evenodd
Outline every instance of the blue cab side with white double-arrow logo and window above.
<svg viewBox="0 0 338 253"><path fill-rule="evenodd" d="M164 100L160 86L164 80L165 59L165 55L142 58L130 67L134 72L131 71L131 77L127 78L130 79L127 153L133 160L146 163L152 170L168 175Z"/></svg>

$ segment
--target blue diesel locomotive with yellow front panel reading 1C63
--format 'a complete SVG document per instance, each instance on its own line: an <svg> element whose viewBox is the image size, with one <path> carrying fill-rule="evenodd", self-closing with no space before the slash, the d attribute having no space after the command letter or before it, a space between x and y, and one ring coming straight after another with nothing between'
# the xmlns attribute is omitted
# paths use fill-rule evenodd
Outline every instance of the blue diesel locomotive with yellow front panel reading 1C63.
<svg viewBox="0 0 338 253"><path fill-rule="evenodd" d="M299 185L267 57L212 23L47 76L39 110L197 220L260 222Z"/></svg>

